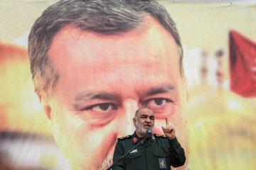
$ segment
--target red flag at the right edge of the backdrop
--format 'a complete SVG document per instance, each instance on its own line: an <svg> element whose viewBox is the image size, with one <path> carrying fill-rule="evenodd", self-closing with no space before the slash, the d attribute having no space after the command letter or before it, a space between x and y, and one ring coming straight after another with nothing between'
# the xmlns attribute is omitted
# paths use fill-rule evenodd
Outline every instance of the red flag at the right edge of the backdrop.
<svg viewBox="0 0 256 170"><path fill-rule="evenodd" d="M256 42L229 33L230 89L240 96L256 97Z"/></svg>

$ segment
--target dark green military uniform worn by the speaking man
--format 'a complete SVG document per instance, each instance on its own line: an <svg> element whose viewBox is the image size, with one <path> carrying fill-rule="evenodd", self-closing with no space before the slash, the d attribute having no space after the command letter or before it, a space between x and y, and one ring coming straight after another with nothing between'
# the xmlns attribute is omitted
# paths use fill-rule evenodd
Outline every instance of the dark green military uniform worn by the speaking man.
<svg viewBox="0 0 256 170"><path fill-rule="evenodd" d="M171 169L171 166L182 166L185 161L185 153L181 145L178 143L176 137L174 140L169 140L164 135L154 135L156 142L149 147L153 140L149 139L143 145L139 145L130 154L117 163L113 170L137 170L137 169ZM137 145L138 142L143 140L137 136L136 132L133 135L120 137L117 139L117 145L114 149L113 162L117 161L120 157L126 154L132 147ZM140 152L146 147L149 147L144 152Z"/></svg>

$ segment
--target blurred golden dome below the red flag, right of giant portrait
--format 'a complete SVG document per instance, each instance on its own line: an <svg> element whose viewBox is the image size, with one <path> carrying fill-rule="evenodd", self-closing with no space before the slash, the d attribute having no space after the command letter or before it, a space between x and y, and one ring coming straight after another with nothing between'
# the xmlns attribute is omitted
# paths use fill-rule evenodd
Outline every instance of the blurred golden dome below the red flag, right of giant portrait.
<svg viewBox="0 0 256 170"><path fill-rule="evenodd" d="M221 88L191 98L190 169L255 169L255 111L245 98Z"/></svg>

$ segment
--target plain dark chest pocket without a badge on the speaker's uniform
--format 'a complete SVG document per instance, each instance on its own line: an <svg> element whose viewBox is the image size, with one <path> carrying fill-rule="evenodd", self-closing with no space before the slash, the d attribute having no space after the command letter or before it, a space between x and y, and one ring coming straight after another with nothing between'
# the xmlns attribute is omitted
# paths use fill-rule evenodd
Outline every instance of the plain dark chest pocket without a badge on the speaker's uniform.
<svg viewBox="0 0 256 170"><path fill-rule="evenodd" d="M124 158L125 168L126 169L143 169L143 160L142 154L129 154L127 157Z"/></svg>

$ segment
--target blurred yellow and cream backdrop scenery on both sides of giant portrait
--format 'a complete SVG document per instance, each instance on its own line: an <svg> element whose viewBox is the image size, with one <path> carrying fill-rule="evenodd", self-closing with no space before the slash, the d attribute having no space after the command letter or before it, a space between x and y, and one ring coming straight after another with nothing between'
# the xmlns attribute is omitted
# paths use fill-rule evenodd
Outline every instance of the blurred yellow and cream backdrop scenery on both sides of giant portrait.
<svg viewBox="0 0 256 170"><path fill-rule="evenodd" d="M0 1L0 170L69 169L34 93L28 33L55 1ZM159 1L188 79L189 169L256 167L256 2Z"/></svg>

